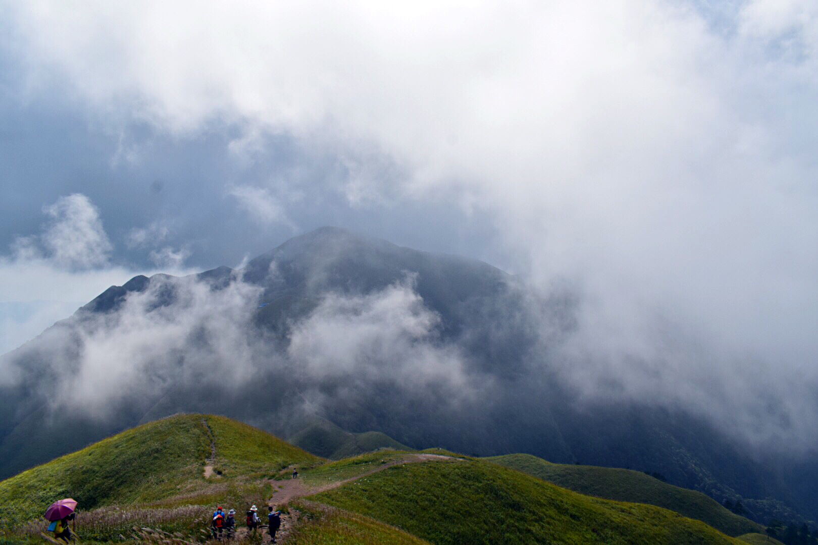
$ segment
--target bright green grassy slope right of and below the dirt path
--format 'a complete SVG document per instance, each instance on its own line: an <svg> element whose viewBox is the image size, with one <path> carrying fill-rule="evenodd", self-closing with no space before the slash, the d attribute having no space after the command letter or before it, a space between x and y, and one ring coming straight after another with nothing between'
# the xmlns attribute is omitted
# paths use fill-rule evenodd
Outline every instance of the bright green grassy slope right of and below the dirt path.
<svg viewBox="0 0 818 545"><path fill-rule="evenodd" d="M583 496L480 461L396 465L311 499L432 543L740 543L673 511Z"/></svg>

